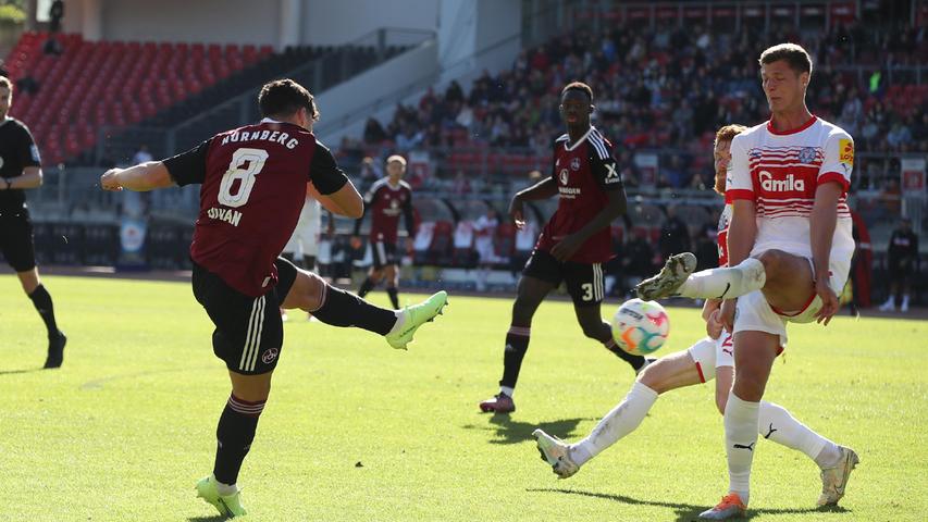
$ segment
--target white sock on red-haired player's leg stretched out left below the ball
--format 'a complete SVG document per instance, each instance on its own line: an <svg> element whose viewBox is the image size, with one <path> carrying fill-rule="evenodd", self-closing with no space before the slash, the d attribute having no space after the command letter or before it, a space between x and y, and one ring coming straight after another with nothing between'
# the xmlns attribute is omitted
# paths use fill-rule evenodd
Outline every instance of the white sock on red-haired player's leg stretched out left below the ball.
<svg viewBox="0 0 928 522"><path fill-rule="evenodd" d="M632 433L657 400L657 391L635 381L619 406L606 413L583 440L570 446L570 457L578 465Z"/></svg>

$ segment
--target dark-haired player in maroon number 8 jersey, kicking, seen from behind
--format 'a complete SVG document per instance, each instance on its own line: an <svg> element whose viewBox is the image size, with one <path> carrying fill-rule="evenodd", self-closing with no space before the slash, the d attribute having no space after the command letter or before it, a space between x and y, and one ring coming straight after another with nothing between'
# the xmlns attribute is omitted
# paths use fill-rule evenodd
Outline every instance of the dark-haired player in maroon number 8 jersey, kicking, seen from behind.
<svg viewBox="0 0 928 522"><path fill-rule="evenodd" d="M279 307L375 332L394 348L405 348L447 301L440 291L416 307L385 310L279 257L296 226L307 182L337 214L359 217L363 202L312 134L319 113L308 90L290 79L275 80L261 89L258 102L264 116L258 124L100 178L107 190L202 185L190 245L194 296L215 325L213 352L225 361L232 395L216 428L213 474L197 483L197 492L226 517L245 514L236 482L283 347Z"/></svg>

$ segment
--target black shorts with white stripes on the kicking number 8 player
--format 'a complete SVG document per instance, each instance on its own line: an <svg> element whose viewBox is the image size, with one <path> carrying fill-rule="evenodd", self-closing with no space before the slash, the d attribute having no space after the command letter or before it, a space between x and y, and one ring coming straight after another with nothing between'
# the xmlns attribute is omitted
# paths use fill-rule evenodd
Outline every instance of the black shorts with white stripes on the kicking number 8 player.
<svg viewBox="0 0 928 522"><path fill-rule="evenodd" d="M283 258L277 258L274 264L277 284L263 296L251 297L194 263L194 296L215 325L213 353L235 373L268 373L281 358L284 324L280 306L296 281L297 269Z"/></svg>

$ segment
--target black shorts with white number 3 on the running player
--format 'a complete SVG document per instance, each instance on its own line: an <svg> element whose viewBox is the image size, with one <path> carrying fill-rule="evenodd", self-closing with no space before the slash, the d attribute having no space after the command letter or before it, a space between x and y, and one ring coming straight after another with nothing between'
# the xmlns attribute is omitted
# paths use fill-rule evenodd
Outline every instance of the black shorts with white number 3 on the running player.
<svg viewBox="0 0 928 522"><path fill-rule="evenodd" d="M535 277L559 286L567 284L567 293L576 307L592 307L603 302L605 285L602 263L561 263L550 252L533 250L522 270L522 275Z"/></svg>

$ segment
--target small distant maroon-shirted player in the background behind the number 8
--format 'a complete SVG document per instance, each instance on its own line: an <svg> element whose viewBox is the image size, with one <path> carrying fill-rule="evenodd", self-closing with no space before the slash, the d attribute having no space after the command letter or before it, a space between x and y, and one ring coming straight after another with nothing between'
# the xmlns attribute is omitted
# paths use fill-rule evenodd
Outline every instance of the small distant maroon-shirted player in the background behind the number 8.
<svg viewBox="0 0 928 522"><path fill-rule="evenodd" d="M364 297L381 281L386 279L386 294L393 308L399 308L396 285L399 282L399 258L396 251L399 214L406 220L406 250L411 250L413 237L412 187L403 181L406 159L399 154L386 159L386 176L371 185L364 196L364 207L371 214L370 245L373 264L361 283L358 296ZM360 245L360 220L355 222L355 244Z"/></svg>

